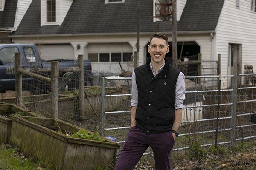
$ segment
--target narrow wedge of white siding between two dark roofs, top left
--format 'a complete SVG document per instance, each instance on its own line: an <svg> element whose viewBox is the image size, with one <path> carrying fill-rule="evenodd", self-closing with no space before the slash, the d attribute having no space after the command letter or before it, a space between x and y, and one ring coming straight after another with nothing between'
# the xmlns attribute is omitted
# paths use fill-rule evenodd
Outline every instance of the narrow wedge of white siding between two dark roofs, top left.
<svg viewBox="0 0 256 170"><path fill-rule="evenodd" d="M14 23L14 31L16 31L18 26L20 25L20 22L24 17L24 15L26 14L26 11L28 10L31 2L32 0L18 0L15 23Z"/></svg>

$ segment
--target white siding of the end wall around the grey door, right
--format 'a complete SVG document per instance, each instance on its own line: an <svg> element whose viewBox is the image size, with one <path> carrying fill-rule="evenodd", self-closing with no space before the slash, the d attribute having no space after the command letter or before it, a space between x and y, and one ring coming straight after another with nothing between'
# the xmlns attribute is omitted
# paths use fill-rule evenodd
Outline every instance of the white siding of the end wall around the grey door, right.
<svg viewBox="0 0 256 170"><path fill-rule="evenodd" d="M217 26L217 54L221 54L221 74L227 75L228 45L242 45L242 74L244 65L256 68L256 13L250 11L251 0L225 0ZM217 56L216 56L217 57Z"/></svg>

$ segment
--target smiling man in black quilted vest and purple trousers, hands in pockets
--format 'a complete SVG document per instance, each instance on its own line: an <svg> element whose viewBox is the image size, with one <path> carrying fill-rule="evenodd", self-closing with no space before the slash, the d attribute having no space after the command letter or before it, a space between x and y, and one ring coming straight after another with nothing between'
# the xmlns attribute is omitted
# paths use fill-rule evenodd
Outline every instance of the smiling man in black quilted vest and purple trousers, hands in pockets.
<svg viewBox="0 0 256 170"><path fill-rule="evenodd" d="M150 37L151 59L132 75L131 128L116 170L133 170L145 150L154 152L156 170L170 170L170 156L182 117L185 77L165 59L168 37Z"/></svg>

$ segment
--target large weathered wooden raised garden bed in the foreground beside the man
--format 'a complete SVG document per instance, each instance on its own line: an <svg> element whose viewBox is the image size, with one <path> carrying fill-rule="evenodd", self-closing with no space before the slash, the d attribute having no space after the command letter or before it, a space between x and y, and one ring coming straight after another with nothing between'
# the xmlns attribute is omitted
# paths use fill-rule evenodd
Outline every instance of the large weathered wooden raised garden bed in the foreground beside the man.
<svg viewBox="0 0 256 170"><path fill-rule="evenodd" d="M25 156L56 170L93 170L116 158L120 147L116 142L102 136L105 142L67 137L51 130L54 128L72 134L84 130L58 119L14 117L10 143L19 145Z"/></svg>

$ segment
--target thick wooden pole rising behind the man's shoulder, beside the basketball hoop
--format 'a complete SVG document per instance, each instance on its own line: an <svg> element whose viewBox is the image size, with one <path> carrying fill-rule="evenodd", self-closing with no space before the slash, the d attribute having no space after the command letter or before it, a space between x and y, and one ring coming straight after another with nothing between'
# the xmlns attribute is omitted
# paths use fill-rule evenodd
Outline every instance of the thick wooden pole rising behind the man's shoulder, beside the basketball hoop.
<svg viewBox="0 0 256 170"><path fill-rule="evenodd" d="M172 0L172 66L175 68L178 68L177 59L177 0Z"/></svg>

